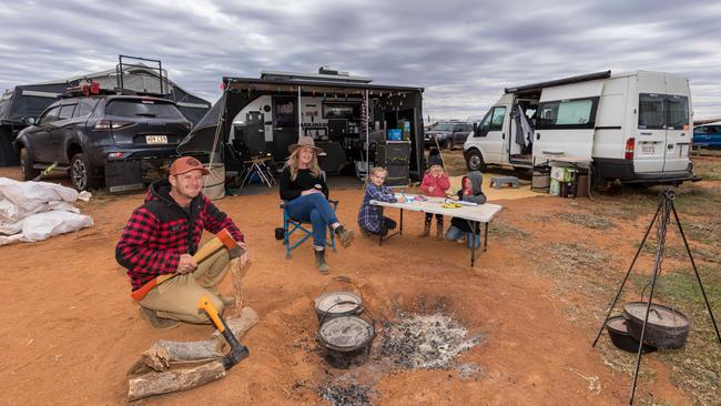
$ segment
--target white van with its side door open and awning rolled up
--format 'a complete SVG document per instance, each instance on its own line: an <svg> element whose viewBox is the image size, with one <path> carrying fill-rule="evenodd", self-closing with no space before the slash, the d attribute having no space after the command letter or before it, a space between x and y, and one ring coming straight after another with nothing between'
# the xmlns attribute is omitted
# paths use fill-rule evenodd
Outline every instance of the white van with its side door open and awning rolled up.
<svg viewBox="0 0 721 406"><path fill-rule="evenodd" d="M689 80L611 71L508 88L464 144L469 170L532 168L548 155L592 162L624 183L698 180L691 172Z"/></svg>

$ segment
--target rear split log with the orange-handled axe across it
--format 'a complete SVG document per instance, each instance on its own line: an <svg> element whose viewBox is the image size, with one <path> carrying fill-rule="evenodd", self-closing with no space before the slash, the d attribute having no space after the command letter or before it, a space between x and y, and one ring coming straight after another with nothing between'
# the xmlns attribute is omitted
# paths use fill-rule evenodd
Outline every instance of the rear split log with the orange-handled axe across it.
<svg viewBox="0 0 721 406"><path fill-rule="evenodd" d="M236 338L245 334L258 321L257 313L251 307L243 307L240 317L225 321ZM161 339L143 352L128 372L128 375L142 374L149 371L163 372L171 366L194 364L221 358L225 355L227 343L216 329L210 339L201 342L172 342Z"/></svg>

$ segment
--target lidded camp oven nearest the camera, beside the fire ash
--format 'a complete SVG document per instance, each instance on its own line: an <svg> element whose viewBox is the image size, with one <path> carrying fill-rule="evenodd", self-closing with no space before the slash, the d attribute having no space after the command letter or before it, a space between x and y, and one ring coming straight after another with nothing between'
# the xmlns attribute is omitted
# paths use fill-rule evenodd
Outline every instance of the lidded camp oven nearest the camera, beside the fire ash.
<svg viewBox="0 0 721 406"><path fill-rule="evenodd" d="M346 369L363 365L370 355L375 326L358 316L326 321L318 331L323 357L328 365Z"/></svg>

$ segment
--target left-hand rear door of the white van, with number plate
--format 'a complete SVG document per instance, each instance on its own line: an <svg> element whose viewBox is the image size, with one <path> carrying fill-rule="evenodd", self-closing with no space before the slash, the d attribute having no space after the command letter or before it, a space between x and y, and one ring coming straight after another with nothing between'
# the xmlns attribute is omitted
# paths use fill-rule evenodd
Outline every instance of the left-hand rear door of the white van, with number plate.
<svg viewBox="0 0 721 406"><path fill-rule="evenodd" d="M658 72L639 72L637 78L639 120L633 171L661 172L666 158L666 78Z"/></svg>

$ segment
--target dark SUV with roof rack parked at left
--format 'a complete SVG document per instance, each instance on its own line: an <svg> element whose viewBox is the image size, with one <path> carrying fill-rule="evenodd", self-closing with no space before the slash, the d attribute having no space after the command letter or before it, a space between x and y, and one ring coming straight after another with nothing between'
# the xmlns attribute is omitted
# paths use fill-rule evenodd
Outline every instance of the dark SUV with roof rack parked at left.
<svg viewBox="0 0 721 406"><path fill-rule="evenodd" d="M102 186L108 161L175 155L192 128L172 101L114 94L61 99L28 123L14 141L23 180L58 162L79 191Z"/></svg>

